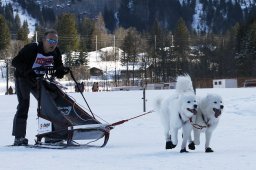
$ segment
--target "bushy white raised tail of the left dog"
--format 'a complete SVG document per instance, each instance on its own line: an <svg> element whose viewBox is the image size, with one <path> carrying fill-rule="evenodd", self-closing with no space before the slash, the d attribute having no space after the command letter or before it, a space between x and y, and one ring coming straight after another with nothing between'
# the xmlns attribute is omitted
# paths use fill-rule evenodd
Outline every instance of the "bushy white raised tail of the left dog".
<svg viewBox="0 0 256 170"><path fill-rule="evenodd" d="M192 80L188 74L177 77L176 91L177 93L194 92Z"/></svg>

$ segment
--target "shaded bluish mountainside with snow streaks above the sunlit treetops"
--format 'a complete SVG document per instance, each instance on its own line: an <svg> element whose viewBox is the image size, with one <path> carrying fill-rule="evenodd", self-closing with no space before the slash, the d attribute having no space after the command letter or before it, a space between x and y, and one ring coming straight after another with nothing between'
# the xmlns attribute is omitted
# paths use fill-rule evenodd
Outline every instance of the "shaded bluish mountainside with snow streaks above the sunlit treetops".
<svg viewBox="0 0 256 170"><path fill-rule="evenodd" d="M71 12L95 18L100 12L106 25L134 26L149 30L155 19L173 29L182 17L191 30L223 33L237 22L246 21L255 11L255 0L58 0L37 1L56 14ZM113 23L114 20L114 23ZM111 24L110 24L111 23Z"/></svg>

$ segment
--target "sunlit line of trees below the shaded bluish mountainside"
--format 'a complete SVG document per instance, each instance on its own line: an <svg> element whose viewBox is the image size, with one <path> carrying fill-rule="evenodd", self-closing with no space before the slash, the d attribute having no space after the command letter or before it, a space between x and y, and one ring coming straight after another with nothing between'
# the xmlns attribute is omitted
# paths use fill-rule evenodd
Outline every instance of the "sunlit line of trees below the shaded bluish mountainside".
<svg viewBox="0 0 256 170"><path fill-rule="evenodd" d="M0 10L2 59L14 57L25 43L36 40L35 36L27 38L26 21L13 29L15 22L7 18L8 8L5 6ZM13 21L15 18L18 16ZM236 23L224 34L192 32L183 18L178 19L174 29L163 28L158 20L154 20L149 31L118 27L111 33L102 14L96 19L83 17L78 20L74 14L63 13L52 27L59 33L59 46L66 54L66 65L73 67L81 79L88 76L88 52L113 46L114 43L124 51L119 57L127 68L127 81L135 78L134 67L138 62L141 63L141 78L150 82L169 82L182 73L198 78L256 75L256 17L251 17L245 24ZM36 25L39 39L44 30L44 26ZM80 53L73 55L73 51ZM116 56L112 54L108 59L115 60ZM133 70L128 70L128 65L133 65Z"/></svg>

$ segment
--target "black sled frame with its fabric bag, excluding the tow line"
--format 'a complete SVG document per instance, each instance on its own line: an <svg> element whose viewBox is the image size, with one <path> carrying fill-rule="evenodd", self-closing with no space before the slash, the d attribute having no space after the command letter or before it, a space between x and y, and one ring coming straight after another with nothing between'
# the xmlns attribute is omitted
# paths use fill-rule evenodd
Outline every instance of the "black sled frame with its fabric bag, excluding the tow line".
<svg viewBox="0 0 256 170"><path fill-rule="evenodd" d="M74 79L71 71L70 74ZM113 127L108 123L102 124L95 118L82 92L81 94L91 114L68 96L61 89L60 84L53 77L49 78L49 75L46 74L45 77L37 77L37 114L39 118L52 123L52 131L38 133L36 135L35 145L44 144L41 142L43 138L65 140L67 142L65 144L66 147L73 146L73 141L75 140L89 140L90 142L85 144L88 145L91 142L104 138L103 144L100 145L100 147L104 147L108 142L110 130ZM77 82L75 81L75 83ZM48 124L41 124L41 126L48 126ZM78 144L77 142L75 143Z"/></svg>

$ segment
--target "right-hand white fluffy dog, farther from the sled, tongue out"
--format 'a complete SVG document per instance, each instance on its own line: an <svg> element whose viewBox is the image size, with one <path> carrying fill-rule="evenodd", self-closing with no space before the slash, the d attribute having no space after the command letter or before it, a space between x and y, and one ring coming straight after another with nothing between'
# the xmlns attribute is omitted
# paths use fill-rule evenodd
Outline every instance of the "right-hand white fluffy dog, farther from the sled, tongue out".
<svg viewBox="0 0 256 170"><path fill-rule="evenodd" d="M198 113L193 117L194 142L189 149L194 150L200 144L200 133L205 132L205 152L213 152L210 148L212 132L217 127L224 105L221 96L208 94L198 103ZM191 137L190 137L191 140Z"/></svg>

